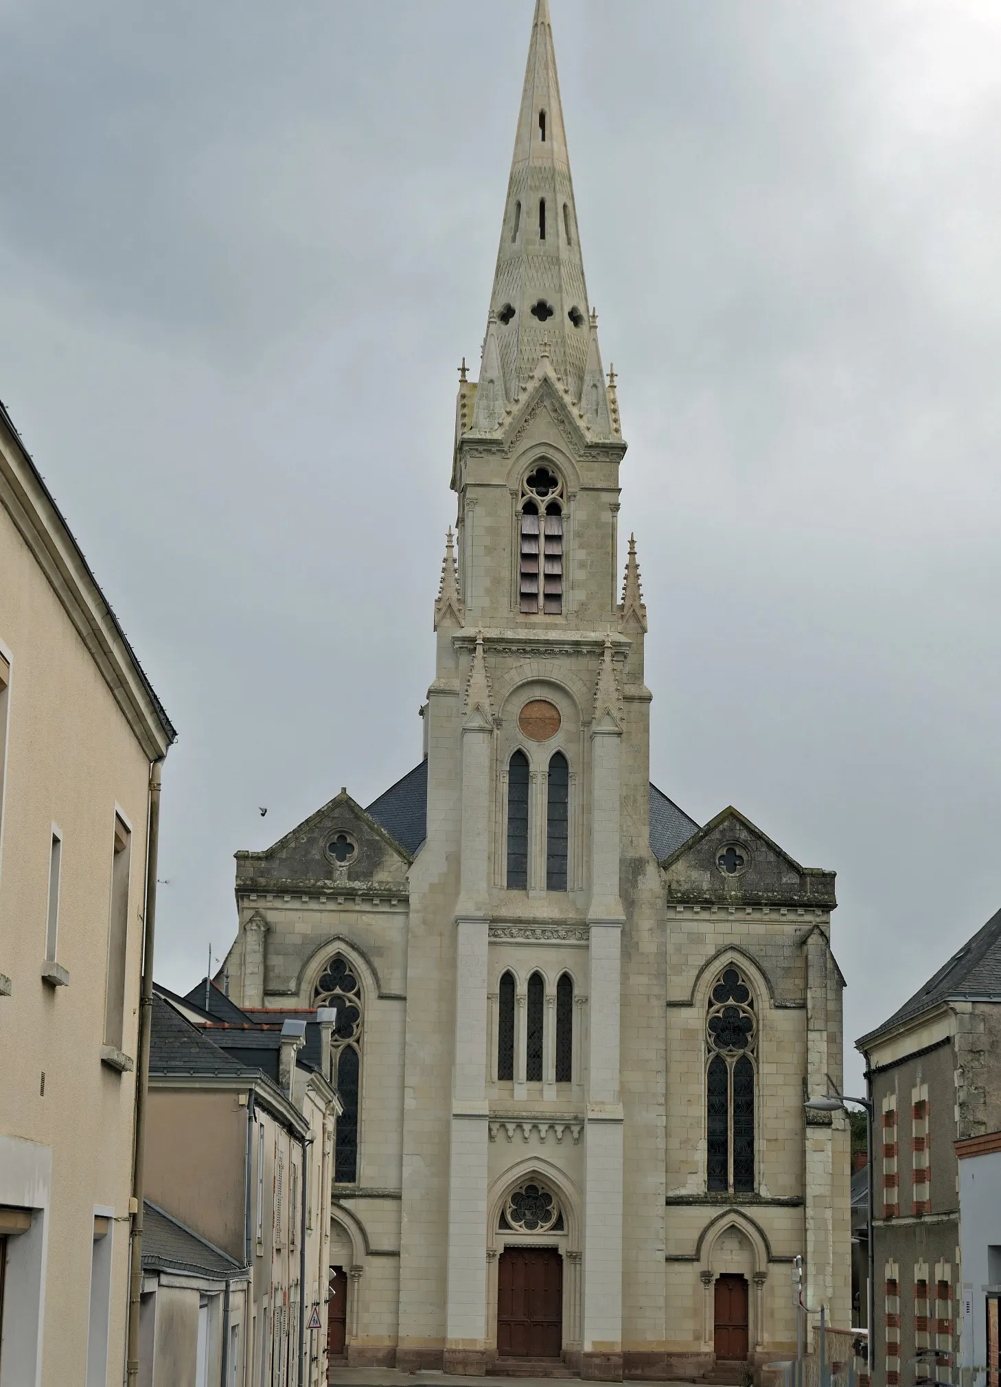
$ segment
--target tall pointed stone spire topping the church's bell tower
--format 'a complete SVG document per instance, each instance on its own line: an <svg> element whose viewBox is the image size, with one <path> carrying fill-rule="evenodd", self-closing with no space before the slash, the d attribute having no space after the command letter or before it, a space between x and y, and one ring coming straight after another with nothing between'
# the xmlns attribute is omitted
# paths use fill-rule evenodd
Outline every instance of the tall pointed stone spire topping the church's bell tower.
<svg viewBox="0 0 1001 1387"><path fill-rule="evenodd" d="M498 413L503 415L538 366L543 338L549 340L553 370L580 408L588 358L592 356L592 363L596 358L600 370L600 356L596 340L592 348L589 331L588 290L548 0L535 4L491 316L496 322L491 323L488 338L492 341L487 345L496 350L503 376L496 383L503 394ZM492 361L489 366L494 368ZM492 377L494 370L487 374ZM602 390L602 422L607 417L603 397Z"/></svg>

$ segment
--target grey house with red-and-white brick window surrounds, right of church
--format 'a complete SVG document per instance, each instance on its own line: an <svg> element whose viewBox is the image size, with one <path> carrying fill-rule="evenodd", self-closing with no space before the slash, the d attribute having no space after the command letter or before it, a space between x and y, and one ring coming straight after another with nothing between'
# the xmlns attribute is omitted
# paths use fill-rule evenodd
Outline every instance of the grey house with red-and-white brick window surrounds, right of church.
<svg viewBox="0 0 1001 1387"><path fill-rule="evenodd" d="M944 1366L959 1348L968 1277L957 1143L1001 1128L1001 911L855 1046L878 1151L882 1137L873 1380L896 1387L915 1370L940 1377L936 1354Z"/></svg>

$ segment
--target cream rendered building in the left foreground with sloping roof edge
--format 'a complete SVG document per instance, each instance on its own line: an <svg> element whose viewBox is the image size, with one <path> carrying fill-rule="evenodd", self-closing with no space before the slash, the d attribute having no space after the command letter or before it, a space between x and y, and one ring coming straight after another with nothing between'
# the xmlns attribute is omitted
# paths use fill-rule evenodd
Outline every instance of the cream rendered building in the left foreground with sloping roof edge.
<svg viewBox="0 0 1001 1387"><path fill-rule="evenodd" d="M123 1377L147 818L173 735L0 406L0 1387Z"/></svg>

